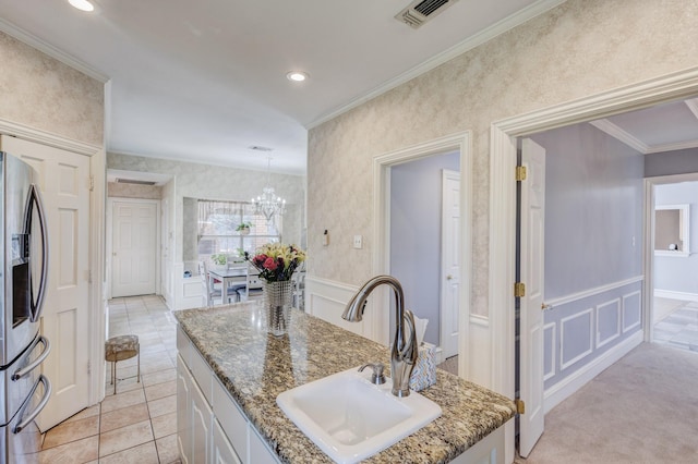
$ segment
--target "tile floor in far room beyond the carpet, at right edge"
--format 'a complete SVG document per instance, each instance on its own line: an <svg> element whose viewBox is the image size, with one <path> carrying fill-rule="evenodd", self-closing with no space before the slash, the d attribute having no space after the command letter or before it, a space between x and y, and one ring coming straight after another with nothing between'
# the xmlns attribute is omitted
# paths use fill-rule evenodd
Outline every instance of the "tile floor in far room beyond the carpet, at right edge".
<svg viewBox="0 0 698 464"><path fill-rule="evenodd" d="M654 342L698 352L698 303L654 298Z"/></svg>

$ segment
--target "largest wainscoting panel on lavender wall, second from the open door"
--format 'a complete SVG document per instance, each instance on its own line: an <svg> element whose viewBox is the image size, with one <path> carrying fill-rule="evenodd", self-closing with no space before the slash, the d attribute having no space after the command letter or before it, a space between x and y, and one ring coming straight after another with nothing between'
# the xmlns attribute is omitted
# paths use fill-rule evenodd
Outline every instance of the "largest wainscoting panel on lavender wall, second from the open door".
<svg viewBox="0 0 698 464"><path fill-rule="evenodd" d="M593 352L593 308L559 320L559 370Z"/></svg>

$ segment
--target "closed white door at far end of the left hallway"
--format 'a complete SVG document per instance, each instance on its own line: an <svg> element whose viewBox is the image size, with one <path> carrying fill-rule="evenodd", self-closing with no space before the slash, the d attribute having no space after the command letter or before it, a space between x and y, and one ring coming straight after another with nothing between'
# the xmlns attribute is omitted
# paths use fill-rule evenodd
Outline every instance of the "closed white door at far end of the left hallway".
<svg viewBox="0 0 698 464"><path fill-rule="evenodd" d="M156 200L112 202L111 297L156 293Z"/></svg>

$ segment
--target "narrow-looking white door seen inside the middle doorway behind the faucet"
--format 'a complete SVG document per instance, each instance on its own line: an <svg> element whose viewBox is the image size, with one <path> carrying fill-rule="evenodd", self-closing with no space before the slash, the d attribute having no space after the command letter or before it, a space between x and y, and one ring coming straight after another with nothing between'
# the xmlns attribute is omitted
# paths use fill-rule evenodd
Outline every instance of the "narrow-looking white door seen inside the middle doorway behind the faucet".
<svg viewBox="0 0 698 464"><path fill-rule="evenodd" d="M444 358L458 354L460 292L460 173L443 171L442 183L441 349Z"/></svg>

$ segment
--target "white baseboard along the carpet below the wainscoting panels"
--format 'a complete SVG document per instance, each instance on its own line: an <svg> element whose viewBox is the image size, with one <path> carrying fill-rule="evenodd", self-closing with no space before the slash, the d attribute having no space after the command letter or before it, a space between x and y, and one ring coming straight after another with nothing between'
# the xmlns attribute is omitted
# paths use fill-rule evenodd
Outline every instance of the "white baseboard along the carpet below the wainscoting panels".
<svg viewBox="0 0 698 464"><path fill-rule="evenodd" d="M641 330L635 332L633 335L618 343L616 346L609 350L585 367L580 368L571 376L566 377L550 389L545 390L545 393L543 394L545 414L569 398L581 387L587 384L587 382L592 380L599 374L611 367L611 365L628 354L637 345L642 343L642 337L643 333Z"/></svg>

